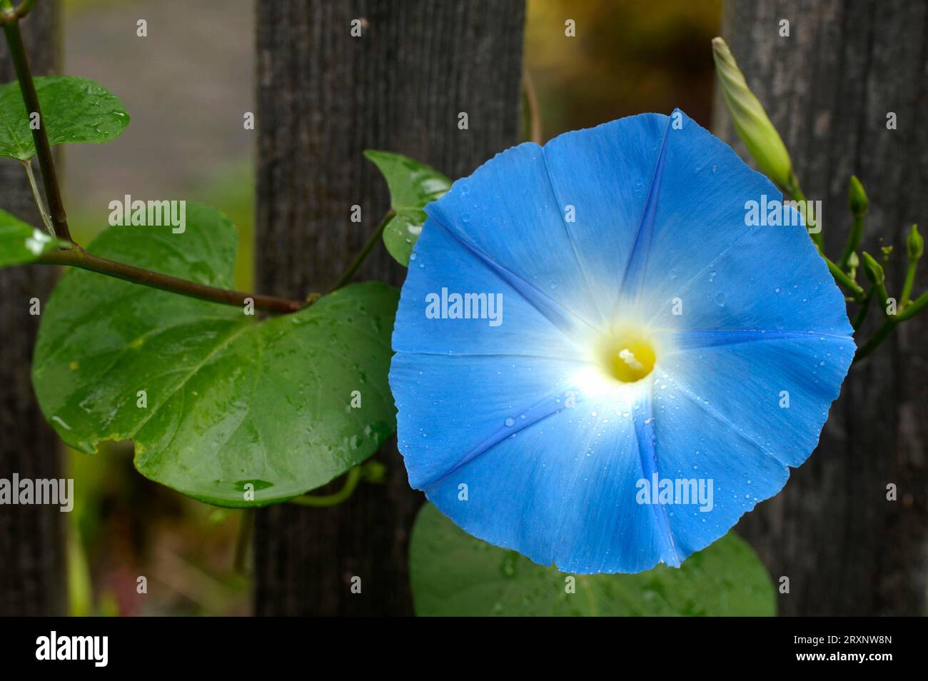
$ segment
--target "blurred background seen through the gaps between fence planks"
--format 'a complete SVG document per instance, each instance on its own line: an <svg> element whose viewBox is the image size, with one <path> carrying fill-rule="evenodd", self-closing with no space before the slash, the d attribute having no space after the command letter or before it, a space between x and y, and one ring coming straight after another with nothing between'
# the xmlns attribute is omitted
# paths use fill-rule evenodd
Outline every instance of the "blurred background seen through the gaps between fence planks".
<svg viewBox="0 0 928 681"><path fill-rule="evenodd" d="M110 200L125 194L200 200L238 226L236 284L249 289L255 135L241 122L254 110L252 0L65 0L64 10L64 71L105 84L132 116L117 141L64 152L75 238L107 225ZM576 37L565 49L566 19ZM721 0L529 0L525 65L544 137L675 107L708 126L720 20ZM67 463L72 614L248 614L236 568L244 512L148 482L130 443L68 452ZM147 594L136 592L140 575Z"/></svg>

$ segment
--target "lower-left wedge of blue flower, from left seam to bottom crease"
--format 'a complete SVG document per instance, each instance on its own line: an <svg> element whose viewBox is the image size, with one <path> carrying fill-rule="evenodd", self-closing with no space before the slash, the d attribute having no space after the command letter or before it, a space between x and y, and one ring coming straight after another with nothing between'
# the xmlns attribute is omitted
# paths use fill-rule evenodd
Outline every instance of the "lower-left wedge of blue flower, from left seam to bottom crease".
<svg viewBox="0 0 928 681"><path fill-rule="evenodd" d="M467 532L539 564L648 569L661 559L660 535L652 508L635 500L643 473L632 419L593 400L564 408L573 369L525 357L506 366L397 355L391 381L405 386L398 437L410 484Z"/></svg>

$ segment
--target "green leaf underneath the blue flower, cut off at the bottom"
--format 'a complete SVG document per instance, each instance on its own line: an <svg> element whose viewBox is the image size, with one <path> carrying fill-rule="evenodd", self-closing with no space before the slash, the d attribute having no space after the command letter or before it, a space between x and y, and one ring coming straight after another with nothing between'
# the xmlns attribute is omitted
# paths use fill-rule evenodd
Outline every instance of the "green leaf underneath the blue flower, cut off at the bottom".
<svg viewBox="0 0 928 681"><path fill-rule="evenodd" d="M638 574L571 575L475 539L426 504L409 554L419 615L776 613L767 569L734 533L694 553L679 569L659 565Z"/></svg>

